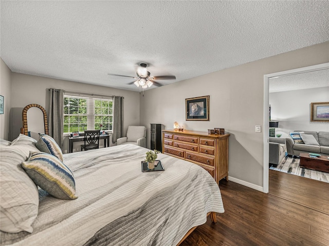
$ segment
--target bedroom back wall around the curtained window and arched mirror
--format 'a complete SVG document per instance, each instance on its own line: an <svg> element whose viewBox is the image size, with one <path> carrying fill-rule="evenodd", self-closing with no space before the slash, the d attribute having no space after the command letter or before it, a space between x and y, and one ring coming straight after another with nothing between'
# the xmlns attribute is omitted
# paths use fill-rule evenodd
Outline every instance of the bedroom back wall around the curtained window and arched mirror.
<svg viewBox="0 0 329 246"><path fill-rule="evenodd" d="M139 92L127 91L103 86L88 85L73 81L46 78L40 76L12 73L12 121L13 126L11 139L20 134L22 127L22 110L26 105L39 104L48 110L46 93L48 88L63 89L81 93L93 93L99 95L116 95L124 97L124 133L129 125L139 126ZM101 141L102 144L103 141ZM80 146L75 144L74 151L80 150ZM65 138L63 153L68 151L68 139Z"/></svg>

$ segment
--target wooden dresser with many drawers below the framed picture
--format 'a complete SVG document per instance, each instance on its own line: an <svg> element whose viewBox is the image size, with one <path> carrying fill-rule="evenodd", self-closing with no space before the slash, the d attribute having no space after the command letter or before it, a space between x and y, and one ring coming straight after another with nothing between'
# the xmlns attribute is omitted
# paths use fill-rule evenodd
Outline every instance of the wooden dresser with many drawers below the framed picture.
<svg viewBox="0 0 329 246"><path fill-rule="evenodd" d="M228 181L228 138L207 132L162 130L162 153L196 163L219 181Z"/></svg>

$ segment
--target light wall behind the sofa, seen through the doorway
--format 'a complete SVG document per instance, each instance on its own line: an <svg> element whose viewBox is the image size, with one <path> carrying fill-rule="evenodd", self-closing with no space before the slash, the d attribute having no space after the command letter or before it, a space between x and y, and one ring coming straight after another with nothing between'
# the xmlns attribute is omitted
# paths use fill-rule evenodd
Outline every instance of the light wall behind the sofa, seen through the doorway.
<svg viewBox="0 0 329 246"><path fill-rule="evenodd" d="M269 93L271 119L279 121L276 133L286 137L294 130L329 131L329 122L310 121L310 103L321 101L329 101L329 87Z"/></svg>

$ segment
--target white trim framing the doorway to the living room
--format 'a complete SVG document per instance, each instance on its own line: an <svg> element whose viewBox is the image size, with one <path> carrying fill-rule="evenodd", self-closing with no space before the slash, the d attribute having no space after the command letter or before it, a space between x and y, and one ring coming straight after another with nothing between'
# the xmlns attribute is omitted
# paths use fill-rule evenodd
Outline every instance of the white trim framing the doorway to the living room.
<svg viewBox="0 0 329 246"><path fill-rule="evenodd" d="M269 174L269 168L268 168L268 155L269 155L269 144L268 144L268 131L269 131L269 79L270 78L275 78L275 77L280 77L280 76L285 76L285 75L291 75L291 74L298 74L298 73L305 73L305 72L311 72L311 71L316 71L316 70L322 70L322 69L328 69L329 68L329 63L322 63L318 65L313 65L313 66L308 66L308 67L303 67L303 68L296 68L296 69L291 69L291 70L286 70L286 71L281 71L281 72L276 72L276 73L269 73L264 75L264 122L263 122L263 143L264 143L264 153L263 153L263 192L268 193L268 174Z"/></svg>

